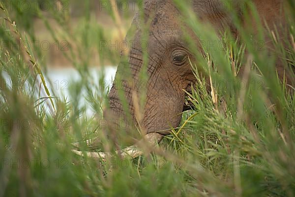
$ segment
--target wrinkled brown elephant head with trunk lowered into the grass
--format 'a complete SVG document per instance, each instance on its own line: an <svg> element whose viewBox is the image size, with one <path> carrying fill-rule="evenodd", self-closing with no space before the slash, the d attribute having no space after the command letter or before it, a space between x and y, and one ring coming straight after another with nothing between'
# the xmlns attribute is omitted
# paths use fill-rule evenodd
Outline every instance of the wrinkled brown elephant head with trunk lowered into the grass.
<svg viewBox="0 0 295 197"><path fill-rule="evenodd" d="M126 41L132 43L128 61L118 65L109 93L110 110L105 112L105 118L110 132L118 135L118 130L127 128L127 132L134 133L140 128L143 134L168 134L171 127L179 125L181 112L189 109L184 104L183 90L189 90L195 81L189 63L193 57L182 38L178 16L170 0L146 0L143 17L136 14L126 36ZM140 76L142 71L144 78ZM124 92L121 96L120 91ZM146 97L141 106L143 93ZM127 126L122 127L122 122Z"/></svg>

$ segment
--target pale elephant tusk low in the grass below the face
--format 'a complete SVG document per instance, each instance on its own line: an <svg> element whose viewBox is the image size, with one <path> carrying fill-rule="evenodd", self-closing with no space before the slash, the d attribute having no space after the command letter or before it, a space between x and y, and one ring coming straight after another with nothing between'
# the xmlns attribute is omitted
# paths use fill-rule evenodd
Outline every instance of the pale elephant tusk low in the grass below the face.
<svg viewBox="0 0 295 197"><path fill-rule="evenodd" d="M131 158L136 158L140 155L143 155L143 151L140 150L139 147L153 147L157 145L163 139L163 135L159 133L148 133L146 134L143 139L139 140L135 145L129 146L122 150L117 150L116 154L120 155L122 158L130 156ZM111 156L111 153L107 152L85 152L85 151L77 151L72 149L72 152L79 155L79 156L87 156L89 158L100 158L106 159L107 157Z"/></svg>

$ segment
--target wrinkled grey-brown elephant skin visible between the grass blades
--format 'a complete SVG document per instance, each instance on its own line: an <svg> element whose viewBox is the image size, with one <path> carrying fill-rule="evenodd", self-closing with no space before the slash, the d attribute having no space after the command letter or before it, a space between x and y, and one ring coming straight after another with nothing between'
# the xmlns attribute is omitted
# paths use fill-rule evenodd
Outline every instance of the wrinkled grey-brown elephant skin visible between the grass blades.
<svg viewBox="0 0 295 197"><path fill-rule="evenodd" d="M259 14L261 19L264 18L269 23L270 28L273 27L273 23L279 24L283 20L282 14L280 14L281 1L255 0L255 3L259 2L257 7L261 7L263 4L264 7L261 11L259 10ZM206 2L206 6L204 2ZM193 0L195 13L201 21L212 24L217 31L223 32L229 28L234 36L237 36L238 33L233 28L231 17L220 10L216 2L217 0ZM147 133L162 131L161 134L168 134L168 129L180 124L181 112L189 109L184 105L185 92L183 89L189 90L190 85L195 83L195 77L187 57L191 61L194 61L194 58L190 54L187 43L183 40L184 23L179 20L180 13L172 0L144 0L144 13L145 19L143 21L138 14L133 20L131 29L136 29L135 42L129 52L129 62L127 64L122 62L118 65L115 77L115 81L127 79L126 69L130 69L131 79L138 79L138 72L143 64L141 36L144 26L150 23L148 29L147 98L145 109L141 111L143 118L137 121L136 106L133 102L134 98L132 98L132 95L138 93L139 90L136 87L128 86L127 83L117 81L120 83L119 87L114 83L109 93L110 110L104 113L112 135L116 135L116 132L120 130L120 126L114 126L116 121L128 119L118 97L118 88L122 88L126 92L125 98L129 103L132 119L129 123L129 130L134 128L132 125L140 125ZM127 34L127 37L133 37L131 32ZM197 36L189 28L186 28L185 32L192 36L192 42L195 42L196 46L200 46ZM199 50L201 51L201 48ZM283 68L277 66L277 69L282 71Z"/></svg>

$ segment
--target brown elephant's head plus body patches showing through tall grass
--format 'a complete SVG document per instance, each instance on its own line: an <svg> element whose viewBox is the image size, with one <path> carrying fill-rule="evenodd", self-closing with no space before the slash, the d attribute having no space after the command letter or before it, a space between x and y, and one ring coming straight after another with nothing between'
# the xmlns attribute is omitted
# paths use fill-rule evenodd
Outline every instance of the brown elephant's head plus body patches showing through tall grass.
<svg viewBox="0 0 295 197"><path fill-rule="evenodd" d="M185 2L190 3L201 22L211 24L216 32L227 29L238 36L233 20L220 0ZM231 2L242 17L243 10L235 6L240 0ZM267 2L264 10L258 10L266 21L278 18L282 0L253 2L257 7L258 3ZM189 44L193 43L200 53L203 50L198 35L186 25L173 0L144 0L143 4L142 12L136 14L127 33L126 40L131 38L132 45L127 61L122 58L118 65L109 93L110 108L104 112L104 117L114 138L121 132L119 130L134 132L139 128L146 136L157 133L156 139L160 141L161 135L168 134L171 128L180 124L181 113L190 109L185 104L184 90L190 91L196 82L190 63L196 59ZM184 33L190 36L190 43L184 39ZM140 77L141 70L146 71L145 79ZM139 104L142 92L146 93L145 102Z"/></svg>

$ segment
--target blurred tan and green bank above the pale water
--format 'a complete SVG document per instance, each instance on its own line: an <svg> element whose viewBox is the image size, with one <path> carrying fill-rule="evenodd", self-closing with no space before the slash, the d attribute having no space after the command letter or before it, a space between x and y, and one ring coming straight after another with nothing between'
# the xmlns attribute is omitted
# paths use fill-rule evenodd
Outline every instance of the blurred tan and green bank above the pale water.
<svg viewBox="0 0 295 197"><path fill-rule="evenodd" d="M29 34L29 45L41 53L39 61L48 67L73 67L73 61L63 53L69 55L71 50L79 53L85 47L89 47L84 53L89 56L87 61L91 66L117 65L120 54L117 43L124 38L141 3L135 0L1 1L19 30ZM105 42L113 45L105 46ZM105 54L112 58L106 58Z"/></svg>

